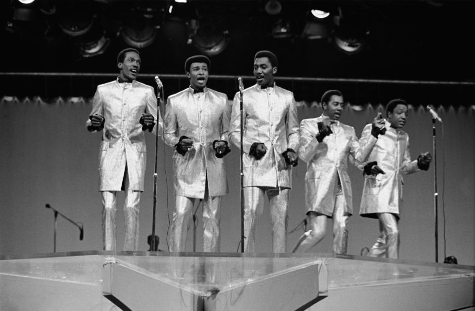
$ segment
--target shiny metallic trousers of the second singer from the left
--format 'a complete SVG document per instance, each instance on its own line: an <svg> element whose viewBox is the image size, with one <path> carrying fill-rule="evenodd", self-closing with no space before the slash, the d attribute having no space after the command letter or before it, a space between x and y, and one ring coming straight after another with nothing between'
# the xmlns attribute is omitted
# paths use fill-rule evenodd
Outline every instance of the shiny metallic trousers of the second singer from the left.
<svg viewBox="0 0 475 311"><path fill-rule="evenodd" d="M222 196L203 199L203 252L219 252L219 207ZM184 252L190 218L196 198L175 196L175 211L170 227L170 252Z"/></svg>

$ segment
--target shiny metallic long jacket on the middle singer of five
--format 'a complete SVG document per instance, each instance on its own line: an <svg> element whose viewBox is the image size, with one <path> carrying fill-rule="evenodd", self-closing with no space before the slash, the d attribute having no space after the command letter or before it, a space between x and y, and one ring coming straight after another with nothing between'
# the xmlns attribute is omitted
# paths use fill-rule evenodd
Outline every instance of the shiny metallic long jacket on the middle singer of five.
<svg viewBox="0 0 475 311"><path fill-rule="evenodd" d="M298 149L297 108L293 93L276 85L262 89L254 85L243 91L244 187L291 187L291 166L282 153ZM234 97L229 138L240 148L240 96ZM267 147L260 160L249 155L253 143Z"/></svg>

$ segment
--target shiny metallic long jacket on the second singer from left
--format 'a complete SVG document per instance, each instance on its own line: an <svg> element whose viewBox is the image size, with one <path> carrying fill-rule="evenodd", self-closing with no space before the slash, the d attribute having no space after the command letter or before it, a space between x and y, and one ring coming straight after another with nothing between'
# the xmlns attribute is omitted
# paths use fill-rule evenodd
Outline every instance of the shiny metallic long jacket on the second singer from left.
<svg viewBox="0 0 475 311"><path fill-rule="evenodd" d="M203 198L206 176L211 197L228 193L224 158L217 158L213 141L228 141L231 107L226 94L205 88L204 104L188 88L168 97L165 107L165 143L178 144L181 136L193 141L185 155L173 153L175 195Z"/></svg>

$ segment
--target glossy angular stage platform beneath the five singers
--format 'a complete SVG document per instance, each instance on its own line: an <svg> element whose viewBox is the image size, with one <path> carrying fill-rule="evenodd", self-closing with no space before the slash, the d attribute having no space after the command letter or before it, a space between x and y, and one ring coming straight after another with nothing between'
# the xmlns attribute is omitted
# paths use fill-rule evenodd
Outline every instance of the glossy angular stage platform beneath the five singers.
<svg viewBox="0 0 475 311"><path fill-rule="evenodd" d="M334 254L0 257L0 310L473 310L475 267Z"/></svg>

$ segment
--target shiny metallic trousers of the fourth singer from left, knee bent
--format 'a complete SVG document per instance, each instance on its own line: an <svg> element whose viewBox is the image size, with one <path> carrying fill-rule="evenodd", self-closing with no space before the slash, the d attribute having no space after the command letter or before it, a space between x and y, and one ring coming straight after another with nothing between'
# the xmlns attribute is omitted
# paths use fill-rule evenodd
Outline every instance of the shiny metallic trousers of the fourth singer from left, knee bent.
<svg viewBox="0 0 475 311"><path fill-rule="evenodd" d="M349 215L345 214L345 199L343 192L339 190L336 194L335 206L333 207L333 247L336 254L346 254L348 244L348 224ZM309 212L310 230L305 232L295 245L292 253L306 253L317 245L324 237L327 230L327 215L317 212Z"/></svg>

